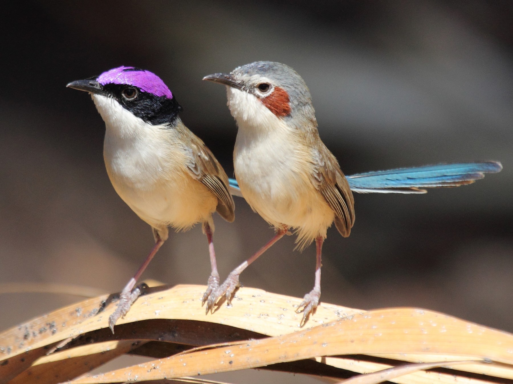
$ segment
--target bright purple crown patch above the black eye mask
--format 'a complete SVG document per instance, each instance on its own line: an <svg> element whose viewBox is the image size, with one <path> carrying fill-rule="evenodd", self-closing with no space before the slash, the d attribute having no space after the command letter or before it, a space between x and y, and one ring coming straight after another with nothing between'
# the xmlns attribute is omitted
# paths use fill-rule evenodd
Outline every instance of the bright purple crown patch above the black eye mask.
<svg viewBox="0 0 513 384"><path fill-rule="evenodd" d="M135 70L134 67L113 68L98 76L96 81L102 86L105 84L129 84L157 97L173 98L173 94L159 76L150 71Z"/></svg>

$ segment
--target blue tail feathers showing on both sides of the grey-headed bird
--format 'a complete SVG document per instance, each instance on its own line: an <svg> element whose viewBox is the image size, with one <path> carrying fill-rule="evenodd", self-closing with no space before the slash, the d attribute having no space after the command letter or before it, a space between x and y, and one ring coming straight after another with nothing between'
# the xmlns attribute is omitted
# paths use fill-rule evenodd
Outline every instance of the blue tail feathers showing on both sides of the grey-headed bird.
<svg viewBox="0 0 513 384"><path fill-rule="evenodd" d="M485 173L502 169L498 161L424 165L378 170L346 176L353 192L382 194L424 194L423 188L456 187L482 179ZM229 179L232 195L242 196L239 184Z"/></svg>

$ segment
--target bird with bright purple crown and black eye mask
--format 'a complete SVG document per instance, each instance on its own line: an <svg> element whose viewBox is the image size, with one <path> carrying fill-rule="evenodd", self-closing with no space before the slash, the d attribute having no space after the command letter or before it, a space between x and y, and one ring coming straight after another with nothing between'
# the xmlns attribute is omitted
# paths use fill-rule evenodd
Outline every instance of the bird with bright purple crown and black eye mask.
<svg viewBox="0 0 513 384"><path fill-rule="evenodd" d="M228 177L200 138L184 125L182 110L169 88L155 74L119 67L67 87L89 92L105 121L104 160L117 194L148 223L155 245L121 292L109 317L114 332L141 294L135 283L168 238L168 226L187 230L202 223L208 239L212 273L205 300L219 287L212 242L213 212L234 220Z"/></svg>

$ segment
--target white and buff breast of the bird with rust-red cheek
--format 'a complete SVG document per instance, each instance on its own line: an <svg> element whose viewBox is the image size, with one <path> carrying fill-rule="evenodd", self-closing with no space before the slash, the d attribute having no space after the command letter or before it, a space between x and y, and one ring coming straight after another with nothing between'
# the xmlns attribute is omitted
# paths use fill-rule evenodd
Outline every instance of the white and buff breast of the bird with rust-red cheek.
<svg viewBox="0 0 513 384"><path fill-rule="evenodd" d="M234 168L244 198L270 224L308 227L315 237L333 221L332 210L310 181L311 152L289 133L255 139L239 130Z"/></svg>

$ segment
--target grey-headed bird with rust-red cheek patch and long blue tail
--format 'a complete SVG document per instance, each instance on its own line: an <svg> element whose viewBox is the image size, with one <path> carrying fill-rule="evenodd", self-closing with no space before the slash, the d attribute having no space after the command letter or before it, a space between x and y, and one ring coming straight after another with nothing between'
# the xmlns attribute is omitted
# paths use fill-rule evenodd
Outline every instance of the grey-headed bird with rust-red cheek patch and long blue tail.
<svg viewBox="0 0 513 384"><path fill-rule="evenodd" d="M298 312L303 311L303 325L319 304L321 251L327 228L334 222L340 234L348 237L353 226L351 190L424 193L425 187L469 184L484 173L502 169L500 163L490 161L400 168L346 178L319 137L310 91L292 68L257 61L229 74L216 73L203 79L226 86L228 108L239 127L233 165L240 191L276 231L211 292L207 311L223 295L229 303L240 273L289 229L295 229L299 249L313 240L317 244L314 287L298 308ZM235 180L230 183L236 187Z"/></svg>

